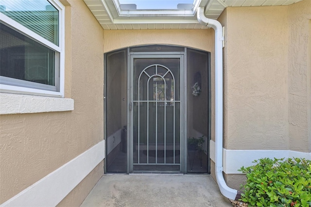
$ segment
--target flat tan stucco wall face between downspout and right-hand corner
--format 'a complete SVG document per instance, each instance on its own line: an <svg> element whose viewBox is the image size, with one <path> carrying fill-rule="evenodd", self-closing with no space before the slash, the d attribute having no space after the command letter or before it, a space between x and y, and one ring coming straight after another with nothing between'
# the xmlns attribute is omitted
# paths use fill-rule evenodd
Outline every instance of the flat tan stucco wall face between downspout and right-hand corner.
<svg viewBox="0 0 311 207"><path fill-rule="evenodd" d="M288 148L287 7L226 9L226 149Z"/></svg>

